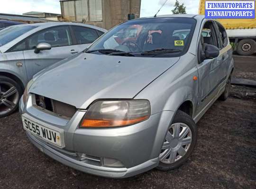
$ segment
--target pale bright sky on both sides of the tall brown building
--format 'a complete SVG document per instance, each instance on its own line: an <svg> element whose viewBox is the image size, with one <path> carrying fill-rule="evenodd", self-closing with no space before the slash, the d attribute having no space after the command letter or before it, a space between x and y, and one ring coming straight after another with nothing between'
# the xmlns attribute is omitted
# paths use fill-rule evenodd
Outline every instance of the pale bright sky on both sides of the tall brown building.
<svg viewBox="0 0 256 189"><path fill-rule="evenodd" d="M199 0L179 0L188 14L197 14ZM1 0L0 13L22 14L30 11L61 13L59 0ZM141 0L140 17L154 16L165 0ZM158 15L172 14L175 0L167 0Z"/></svg>

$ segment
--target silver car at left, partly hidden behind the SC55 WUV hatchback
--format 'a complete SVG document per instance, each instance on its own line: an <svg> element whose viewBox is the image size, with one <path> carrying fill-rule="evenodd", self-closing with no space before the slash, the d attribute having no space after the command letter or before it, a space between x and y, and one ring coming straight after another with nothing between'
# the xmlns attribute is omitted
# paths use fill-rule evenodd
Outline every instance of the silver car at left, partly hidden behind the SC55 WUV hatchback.
<svg viewBox="0 0 256 189"><path fill-rule="evenodd" d="M107 30L75 23L38 23L0 30L0 117L18 108L38 71L84 50Z"/></svg>

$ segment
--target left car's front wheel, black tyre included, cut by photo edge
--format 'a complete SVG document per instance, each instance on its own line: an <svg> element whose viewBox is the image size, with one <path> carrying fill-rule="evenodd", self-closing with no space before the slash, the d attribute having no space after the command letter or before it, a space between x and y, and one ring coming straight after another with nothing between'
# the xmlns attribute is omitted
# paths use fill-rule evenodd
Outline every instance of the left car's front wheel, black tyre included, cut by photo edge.
<svg viewBox="0 0 256 189"><path fill-rule="evenodd" d="M18 108L21 94L21 87L16 81L0 76L0 118L11 114Z"/></svg>

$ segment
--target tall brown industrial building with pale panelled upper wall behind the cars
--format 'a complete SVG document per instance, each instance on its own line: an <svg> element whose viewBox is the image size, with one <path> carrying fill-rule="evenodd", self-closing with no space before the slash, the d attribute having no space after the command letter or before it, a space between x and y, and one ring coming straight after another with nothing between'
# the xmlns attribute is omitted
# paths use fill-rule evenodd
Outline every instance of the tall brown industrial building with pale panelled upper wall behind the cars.
<svg viewBox="0 0 256 189"><path fill-rule="evenodd" d="M63 21L82 22L110 29L140 15L141 0L60 0Z"/></svg>

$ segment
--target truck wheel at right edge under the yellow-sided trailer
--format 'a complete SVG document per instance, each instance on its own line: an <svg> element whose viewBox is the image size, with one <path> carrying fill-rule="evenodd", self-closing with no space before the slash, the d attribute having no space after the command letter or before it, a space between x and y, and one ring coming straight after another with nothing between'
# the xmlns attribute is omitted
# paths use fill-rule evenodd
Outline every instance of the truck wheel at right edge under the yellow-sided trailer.
<svg viewBox="0 0 256 189"><path fill-rule="evenodd" d="M250 56L256 51L256 42L252 39L243 39L239 41L237 52L242 56Z"/></svg>

